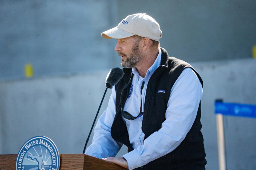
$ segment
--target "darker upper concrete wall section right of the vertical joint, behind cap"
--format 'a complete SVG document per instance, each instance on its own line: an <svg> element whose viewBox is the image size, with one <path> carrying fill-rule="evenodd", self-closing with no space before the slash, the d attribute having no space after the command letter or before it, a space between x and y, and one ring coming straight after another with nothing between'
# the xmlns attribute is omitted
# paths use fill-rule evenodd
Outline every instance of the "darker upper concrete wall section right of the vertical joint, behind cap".
<svg viewBox="0 0 256 170"><path fill-rule="evenodd" d="M136 4L136 5L135 5ZM161 46L184 61L250 58L256 44L254 0L118 1L118 19L147 13L163 32Z"/></svg>

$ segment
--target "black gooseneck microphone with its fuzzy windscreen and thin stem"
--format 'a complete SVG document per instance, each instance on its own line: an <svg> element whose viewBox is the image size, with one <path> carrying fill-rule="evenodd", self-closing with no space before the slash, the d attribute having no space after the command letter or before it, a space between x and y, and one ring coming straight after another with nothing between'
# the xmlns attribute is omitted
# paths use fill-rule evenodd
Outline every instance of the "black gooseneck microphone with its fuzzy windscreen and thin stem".
<svg viewBox="0 0 256 170"><path fill-rule="evenodd" d="M101 99L101 104L102 104L103 99L106 95L107 88L111 89L115 84L117 84L123 78L123 75L124 75L123 70L118 68L118 67L115 67L115 68L113 68L109 71L109 73L107 74L107 77L106 77L106 90L105 90L104 95ZM83 148L83 154L85 153L85 149L86 149L87 143L89 141L91 131L93 130L93 126L94 126L95 121L97 119L97 116L99 114L99 110L101 109L101 104L99 105L98 111L97 111L96 116L95 116L94 121L93 121L93 125L91 126L91 130L90 130L90 133L89 133L88 138L86 140L85 147Z"/></svg>

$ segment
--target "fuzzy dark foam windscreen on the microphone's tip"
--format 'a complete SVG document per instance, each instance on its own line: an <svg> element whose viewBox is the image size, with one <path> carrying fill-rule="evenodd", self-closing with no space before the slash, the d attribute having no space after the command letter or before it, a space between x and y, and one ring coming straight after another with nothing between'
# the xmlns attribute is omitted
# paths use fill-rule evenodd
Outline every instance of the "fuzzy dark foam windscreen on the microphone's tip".
<svg viewBox="0 0 256 170"><path fill-rule="evenodd" d="M106 77L106 87L112 88L115 84L123 78L123 70L120 69L119 67L115 67L109 71Z"/></svg>

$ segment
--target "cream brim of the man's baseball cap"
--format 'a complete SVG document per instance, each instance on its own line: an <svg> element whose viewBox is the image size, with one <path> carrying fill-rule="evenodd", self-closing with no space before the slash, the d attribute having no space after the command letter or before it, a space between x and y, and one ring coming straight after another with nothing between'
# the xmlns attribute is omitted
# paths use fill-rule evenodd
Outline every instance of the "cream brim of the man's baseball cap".
<svg viewBox="0 0 256 170"><path fill-rule="evenodd" d="M130 37L133 35L135 35L135 34L123 31L122 29L117 28L117 27L114 27L112 29L109 29L109 30L101 33L101 36L105 39L112 39L112 38L121 39L121 38Z"/></svg>

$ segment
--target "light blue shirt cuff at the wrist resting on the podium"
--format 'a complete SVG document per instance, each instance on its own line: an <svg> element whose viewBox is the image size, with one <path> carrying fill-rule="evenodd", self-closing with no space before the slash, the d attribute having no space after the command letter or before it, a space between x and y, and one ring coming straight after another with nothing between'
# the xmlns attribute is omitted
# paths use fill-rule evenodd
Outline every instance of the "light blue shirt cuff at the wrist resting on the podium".
<svg viewBox="0 0 256 170"><path fill-rule="evenodd" d="M136 150L128 152L127 154L123 155L122 157L126 159L126 161L128 163L128 168L130 170L142 166L141 157Z"/></svg>

